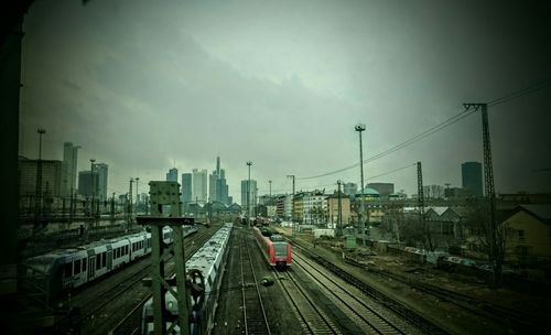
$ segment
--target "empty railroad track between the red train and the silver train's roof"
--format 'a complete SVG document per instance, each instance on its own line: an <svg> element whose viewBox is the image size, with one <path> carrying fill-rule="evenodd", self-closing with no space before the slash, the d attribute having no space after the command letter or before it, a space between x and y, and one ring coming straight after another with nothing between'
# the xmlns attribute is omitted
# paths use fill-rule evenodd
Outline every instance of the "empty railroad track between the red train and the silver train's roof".
<svg viewBox="0 0 551 335"><path fill-rule="evenodd" d="M245 334L271 334L246 237L242 238L239 249ZM255 283L255 289L249 289L247 283Z"/></svg>

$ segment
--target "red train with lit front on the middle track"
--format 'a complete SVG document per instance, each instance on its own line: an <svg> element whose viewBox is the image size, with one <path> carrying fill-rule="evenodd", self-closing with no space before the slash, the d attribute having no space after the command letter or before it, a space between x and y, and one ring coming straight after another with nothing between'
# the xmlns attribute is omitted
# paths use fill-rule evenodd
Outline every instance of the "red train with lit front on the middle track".
<svg viewBox="0 0 551 335"><path fill-rule="evenodd" d="M293 259L291 245L281 235L274 234L271 229L258 227L252 227L252 234L271 267L285 270L291 266Z"/></svg>

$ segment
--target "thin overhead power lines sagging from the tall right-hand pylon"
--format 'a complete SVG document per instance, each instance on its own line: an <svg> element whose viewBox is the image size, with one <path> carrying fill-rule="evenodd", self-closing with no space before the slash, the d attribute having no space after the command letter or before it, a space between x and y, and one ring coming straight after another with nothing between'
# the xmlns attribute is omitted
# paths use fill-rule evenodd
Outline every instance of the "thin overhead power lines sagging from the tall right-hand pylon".
<svg viewBox="0 0 551 335"><path fill-rule="evenodd" d="M528 95L528 94L531 94L531 93L534 93L537 90L540 90L540 89L543 89L548 86L551 86L551 79L545 79L543 82L540 82L538 84L534 84L530 87L527 87L527 88L523 88L523 89L520 89L520 90L517 90L517 91L514 91L514 93L510 93L510 94L507 94L505 96L501 96L499 98L496 98L496 99L493 99L490 100L488 104L488 106L496 106L496 105L499 105L499 104L505 104L505 102L508 102L510 100L514 100L514 99L517 99L517 98L520 98L525 95ZM412 137L411 139L408 139L399 144L396 144L395 147L386 150L386 151L382 151L376 155L372 155L366 160L364 160L363 162L364 163L369 163L369 162L372 162L375 160L378 160L380 158L383 158L390 153L393 153L400 149L403 149L406 147L409 147L411 145L412 143L419 141L419 140L422 140L446 127L450 127L452 126L453 123L468 117L469 115L474 114L475 111L477 111L477 109L473 109L473 110L463 110L461 111L460 114L453 116L452 118L436 125L436 126L433 126L431 128L429 128L428 130ZM322 173L322 174L317 174L317 175L312 175L312 176L303 176L303 177L296 177L296 180L312 180L312 179L318 179L318 177L323 177L323 176L327 176L327 175L332 175L332 174L335 174L335 173L339 173L339 172L344 172L344 171L347 171L347 170L350 170L350 169L354 169L356 166L358 166L359 163L356 163L356 164L353 164L353 165L349 165L349 166L346 166L346 168L342 168L342 169L338 169L338 170L335 170L335 171L331 171L331 172L327 172L327 173Z"/></svg>

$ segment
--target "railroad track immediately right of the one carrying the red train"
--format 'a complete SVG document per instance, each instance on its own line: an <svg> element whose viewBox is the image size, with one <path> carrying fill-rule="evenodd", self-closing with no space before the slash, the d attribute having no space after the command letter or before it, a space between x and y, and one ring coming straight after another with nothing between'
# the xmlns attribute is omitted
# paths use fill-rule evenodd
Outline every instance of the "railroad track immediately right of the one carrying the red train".
<svg viewBox="0 0 551 335"><path fill-rule="evenodd" d="M350 288L337 278L331 278L309 260L294 253L294 264L310 274L313 281L323 288L335 305L346 314L366 334L412 334L411 326L407 325L396 315L388 315L379 305L369 304L356 288ZM387 315L385 315L387 314ZM393 318L393 320L392 320Z"/></svg>

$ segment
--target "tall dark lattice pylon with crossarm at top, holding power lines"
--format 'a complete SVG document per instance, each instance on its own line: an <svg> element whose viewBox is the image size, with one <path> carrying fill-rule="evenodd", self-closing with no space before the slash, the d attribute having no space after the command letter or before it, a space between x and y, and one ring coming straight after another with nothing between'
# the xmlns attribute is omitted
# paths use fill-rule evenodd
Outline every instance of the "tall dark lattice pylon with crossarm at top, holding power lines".
<svg viewBox="0 0 551 335"><path fill-rule="evenodd" d="M496 191L494 188L494 168L491 163L491 143L489 139L489 123L488 123L488 105L487 104L463 104L465 111L474 108L482 110L483 121L483 150L484 150L484 185L486 191L486 198L488 203L489 225L490 225L490 252L491 260L494 261L494 282L500 284L501 278L501 257L498 250L499 239L497 236L497 221L496 221Z"/></svg>

